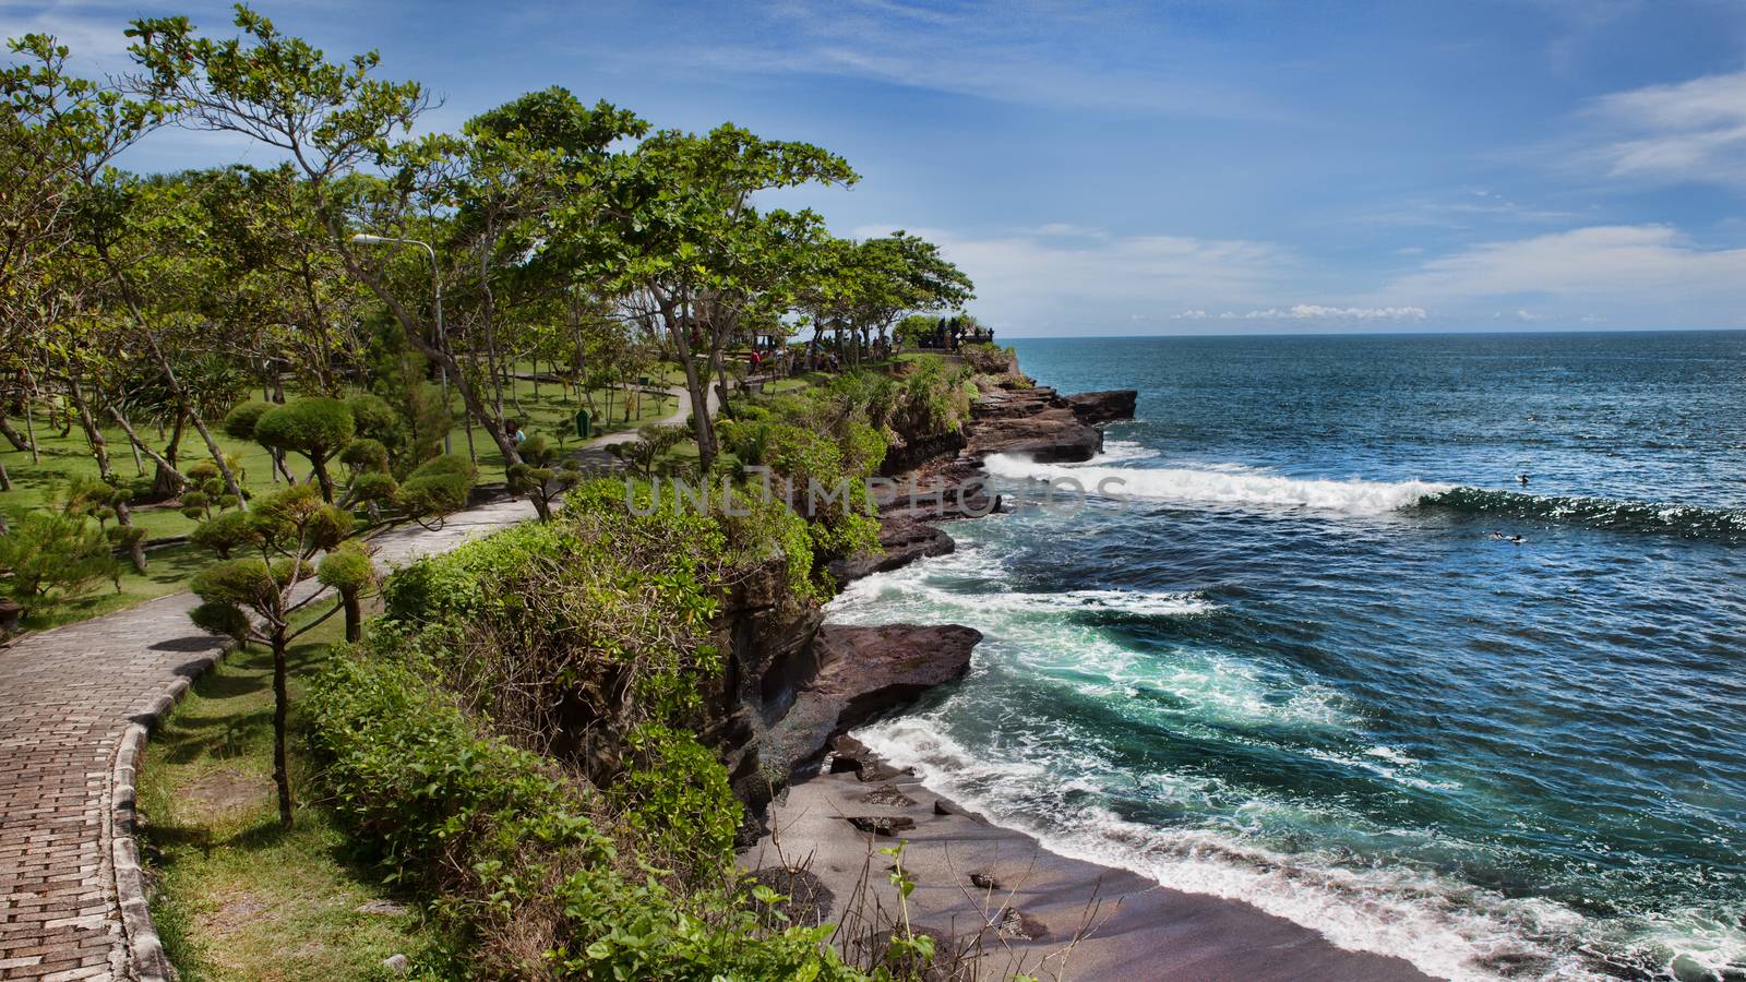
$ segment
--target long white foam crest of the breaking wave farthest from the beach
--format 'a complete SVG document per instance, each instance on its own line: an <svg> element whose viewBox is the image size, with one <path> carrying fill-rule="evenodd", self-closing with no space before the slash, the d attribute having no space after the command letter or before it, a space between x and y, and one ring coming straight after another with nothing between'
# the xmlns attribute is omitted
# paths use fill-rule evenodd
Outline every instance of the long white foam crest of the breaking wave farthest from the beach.
<svg viewBox="0 0 1746 982"><path fill-rule="evenodd" d="M1257 470L1212 470L1205 467L1102 467L1037 463L1018 454L993 454L983 467L1011 481L1077 481L1088 489L1105 481L1131 498L1158 501L1248 505L1271 508L1316 508L1346 515L1379 515L1416 505L1426 494L1449 491L1449 484L1426 481L1304 481Z"/></svg>

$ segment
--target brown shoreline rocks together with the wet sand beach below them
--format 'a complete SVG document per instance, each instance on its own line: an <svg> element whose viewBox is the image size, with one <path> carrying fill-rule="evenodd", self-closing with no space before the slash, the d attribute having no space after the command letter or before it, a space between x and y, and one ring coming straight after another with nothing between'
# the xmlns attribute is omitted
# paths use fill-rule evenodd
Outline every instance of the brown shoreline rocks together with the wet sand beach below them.
<svg viewBox="0 0 1746 982"><path fill-rule="evenodd" d="M880 501L878 556L838 561L840 584L955 549L939 522L999 508L981 463L995 453L1051 463L1096 456L1105 423L1131 419L1133 390L1062 397L1007 363L985 384L962 433L910 440ZM918 494L915 493L918 491ZM775 610L772 605L770 610ZM917 930L936 938L934 975L1172 980L1423 980L1397 958L1343 951L1318 933L1236 900L1163 888L1130 870L1048 851L992 825L880 760L849 730L969 671L981 634L964 626L843 627L807 619L760 652L760 692L739 713L730 755L753 821L740 865L789 896L798 923L843 923L850 944L868 910L896 909L903 868ZM749 641L749 638L747 638ZM737 647L739 648L739 647ZM739 648L744 650L744 648ZM737 659L742 660L742 659ZM744 685L742 685L744 688Z"/></svg>

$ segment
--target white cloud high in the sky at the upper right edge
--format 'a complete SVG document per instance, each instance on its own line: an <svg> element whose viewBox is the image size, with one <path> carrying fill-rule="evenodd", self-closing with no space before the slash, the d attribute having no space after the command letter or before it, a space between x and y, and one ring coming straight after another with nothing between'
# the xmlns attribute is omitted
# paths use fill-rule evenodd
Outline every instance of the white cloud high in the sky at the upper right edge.
<svg viewBox="0 0 1746 982"><path fill-rule="evenodd" d="M1613 93L1587 115L1612 176L1746 187L1746 72Z"/></svg>

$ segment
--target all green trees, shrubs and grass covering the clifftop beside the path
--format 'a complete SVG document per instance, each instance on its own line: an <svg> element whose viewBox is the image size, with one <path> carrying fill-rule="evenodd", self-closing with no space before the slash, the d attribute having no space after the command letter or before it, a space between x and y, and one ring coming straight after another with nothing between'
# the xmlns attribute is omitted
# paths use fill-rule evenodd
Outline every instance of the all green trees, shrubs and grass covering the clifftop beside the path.
<svg viewBox="0 0 1746 982"><path fill-rule="evenodd" d="M185 587L243 645L147 764L173 954L234 973L215 898L283 886L274 856L321 903L417 912L281 921L335 973L393 945L445 977L915 977L929 935L836 937L739 872L747 779L789 765L726 760L746 596L815 629L833 561L880 550L861 489L887 451L966 423L971 370L894 360L892 330L969 280L918 236L760 206L857 180L824 149L562 89L412 136L430 96L374 54L236 28L136 21L110 82L33 35L0 75L0 582L26 627ZM122 169L166 126L278 163ZM629 482L590 474L585 440L629 428ZM686 481L737 507L686 507ZM540 521L381 577L377 533L480 491ZM208 802L227 776L251 790Z"/></svg>

